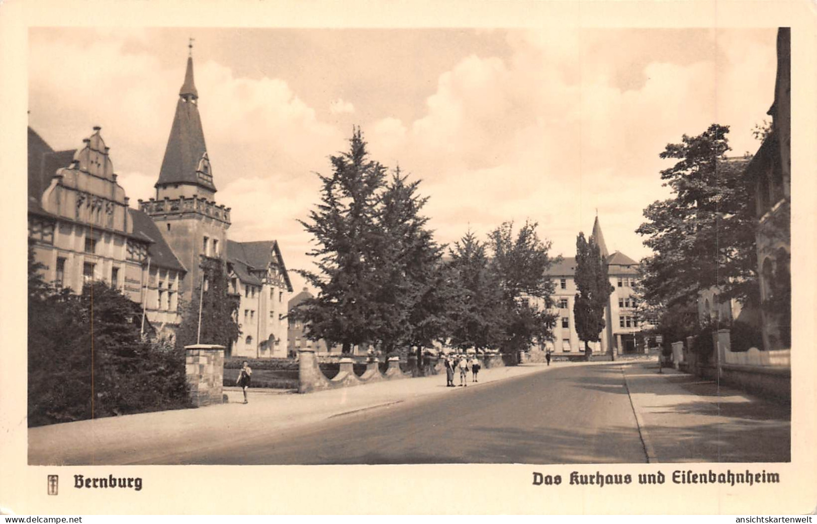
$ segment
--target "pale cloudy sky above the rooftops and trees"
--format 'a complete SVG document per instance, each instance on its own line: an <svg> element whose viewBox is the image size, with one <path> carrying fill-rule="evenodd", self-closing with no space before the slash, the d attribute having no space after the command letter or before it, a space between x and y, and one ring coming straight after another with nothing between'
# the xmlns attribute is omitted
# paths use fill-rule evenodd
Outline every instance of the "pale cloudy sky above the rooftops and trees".
<svg viewBox="0 0 817 524"><path fill-rule="evenodd" d="M421 178L440 242L529 218L572 255L596 209L608 248L648 251L658 155L710 123L734 155L774 95L776 29L31 29L29 124L55 149L102 126L119 181L154 195L188 37L204 136L234 240L277 239L360 125L373 158ZM293 284L302 285L293 275Z"/></svg>

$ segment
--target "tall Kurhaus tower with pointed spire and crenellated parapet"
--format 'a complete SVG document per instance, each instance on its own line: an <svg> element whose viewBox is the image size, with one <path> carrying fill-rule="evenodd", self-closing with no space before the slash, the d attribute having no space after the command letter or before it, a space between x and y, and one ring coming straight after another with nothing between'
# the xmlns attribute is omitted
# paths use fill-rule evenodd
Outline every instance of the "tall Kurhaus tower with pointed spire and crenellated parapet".
<svg viewBox="0 0 817 524"><path fill-rule="evenodd" d="M199 117L199 92L193 82L192 47L155 185L156 198L139 201L141 211L153 219L187 270L179 291L180 298L188 302L202 283L202 267L208 261L225 264L230 227L230 208L214 200L216 186Z"/></svg>

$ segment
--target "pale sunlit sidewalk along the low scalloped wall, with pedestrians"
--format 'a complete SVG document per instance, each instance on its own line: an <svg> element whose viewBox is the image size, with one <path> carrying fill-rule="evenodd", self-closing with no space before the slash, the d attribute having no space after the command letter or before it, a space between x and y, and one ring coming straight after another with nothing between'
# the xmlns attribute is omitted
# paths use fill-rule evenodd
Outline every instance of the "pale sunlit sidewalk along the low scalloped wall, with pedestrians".
<svg viewBox="0 0 817 524"><path fill-rule="evenodd" d="M525 364L483 369L479 383L565 367L570 364ZM470 377L469 377L470 380ZM457 377L456 383L459 378ZM465 387L445 387L445 375L406 378L308 394L249 390L244 405L239 391L230 402L199 409L158 411L122 417L52 424L29 429L29 464L154 464L180 451L218 449L251 441L270 432L316 423L362 410L387 409L401 402L434 395L456 395Z"/></svg>

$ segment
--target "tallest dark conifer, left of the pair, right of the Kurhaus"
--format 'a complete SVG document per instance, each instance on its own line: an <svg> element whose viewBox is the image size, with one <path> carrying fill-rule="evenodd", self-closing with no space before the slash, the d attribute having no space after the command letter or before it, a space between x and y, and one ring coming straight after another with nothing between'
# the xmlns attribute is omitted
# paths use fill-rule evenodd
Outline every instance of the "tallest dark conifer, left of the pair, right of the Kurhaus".
<svg viewBox="0 0 817 524"><path fill-rule="evenodd" d="M306 336L342 344L342 352L377 338L385 316L378 311L382 284L382 231L377 225L379 190L386 168L368 157L359 128L349 150L331 157L333 173L319 175L321 202L308 221L299 221L315 238L309 254L317 271L299 271L319 290L296 313Z"/></svg>

